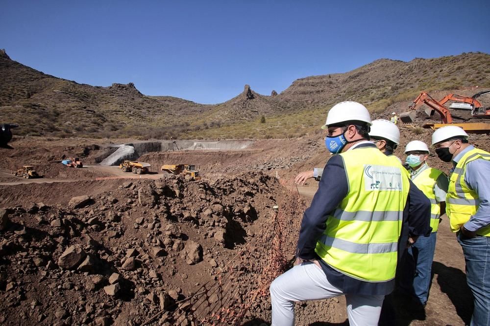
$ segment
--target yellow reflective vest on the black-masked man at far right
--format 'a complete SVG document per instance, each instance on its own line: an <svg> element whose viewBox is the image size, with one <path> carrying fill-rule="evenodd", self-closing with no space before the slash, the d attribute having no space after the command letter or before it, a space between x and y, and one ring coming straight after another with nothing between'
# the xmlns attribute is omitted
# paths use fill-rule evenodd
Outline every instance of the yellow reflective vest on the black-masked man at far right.
<svg viewBox="0 0 490 326"><path fill-rule="evenodd" d="M490 153L476 148L466 152L449 177L446 213L453 232L457 232L476 213L480 205L478 194L470 189L465 182L466 166L476 159L490 161ZM476 233L480 236L490 237L490 226L483 227Z"/></svg>

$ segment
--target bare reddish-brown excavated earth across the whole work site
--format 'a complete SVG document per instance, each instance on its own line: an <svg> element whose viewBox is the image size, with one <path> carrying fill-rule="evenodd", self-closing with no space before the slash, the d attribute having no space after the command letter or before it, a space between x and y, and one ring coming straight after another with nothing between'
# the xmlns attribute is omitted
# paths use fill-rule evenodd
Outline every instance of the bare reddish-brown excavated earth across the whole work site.
<svg viewBox="0 0 490 326"><path fill-rule="evenodd" d="M400 130L395 154L402 160L408 141L430 143L430 130ZM0 324L205 325L202 318L224 308L234 318L244 313L239 325L268 325L263 285L278 270L270 266L271 252L281 252L270 238L277 230L272 207L285 214L296 202L291 194L297 188L288 181L324 166L331 155L323 142L318 134L255 141L245 149L147 152L137 159L151 164L150 174L140 178L98 165L115 144L16 138L13 150L0 149L0 183L25 182L10 171L26 164L46 180L69 182L0 185L0 208L6 209L0 210ZM470 142L490 149L488 135L470 135ZM61 165L63 155L79 156L85 167ZM177 163L195 164L203 179L159 170ZM429 164L450 169L433 152ZM299 191L311 200L317 185L309 180ZM303 209L286 214L291 224L282 229L283 267L291 266ZM448 230L443 221L423 315L388 297L395 312L382 325L469 323L465 262ZM297 303L295 310L297 325L346 320L343 297ZM234 321L223 318L229 322L223 325Z"/></svg>

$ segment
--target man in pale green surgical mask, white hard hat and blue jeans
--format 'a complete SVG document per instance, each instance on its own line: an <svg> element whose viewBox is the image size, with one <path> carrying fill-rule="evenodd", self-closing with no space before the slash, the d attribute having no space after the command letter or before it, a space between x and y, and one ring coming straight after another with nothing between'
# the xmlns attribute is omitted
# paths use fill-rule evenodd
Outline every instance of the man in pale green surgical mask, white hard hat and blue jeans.
<svg viewBox="0 0 490 326"><path fill-rule="evenodd" d="M427 165L429 148L420 141L414 140L405 147L406 163L409 166L410 178L431 202L430 226L432 232L429 237L419 237L417 242L408 248L408 257L400 269L401 288L414 296L422 306L427 304L431 280L432 260L436 249L437 230L440 216L445 213L446 193L449 180L441 170Z"/></svg>

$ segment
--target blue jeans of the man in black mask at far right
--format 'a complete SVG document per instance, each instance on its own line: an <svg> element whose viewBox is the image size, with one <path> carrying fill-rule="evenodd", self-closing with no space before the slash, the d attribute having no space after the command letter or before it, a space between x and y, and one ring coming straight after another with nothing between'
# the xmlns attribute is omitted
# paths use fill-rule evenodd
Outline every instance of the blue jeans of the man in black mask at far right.
<svg viewBox="0 0 490 326"><path fill-rule="evenodd" d="M490 237L466 238L458 233L466 261L466 283L473 293L471 326L490 325Z"/></svg>

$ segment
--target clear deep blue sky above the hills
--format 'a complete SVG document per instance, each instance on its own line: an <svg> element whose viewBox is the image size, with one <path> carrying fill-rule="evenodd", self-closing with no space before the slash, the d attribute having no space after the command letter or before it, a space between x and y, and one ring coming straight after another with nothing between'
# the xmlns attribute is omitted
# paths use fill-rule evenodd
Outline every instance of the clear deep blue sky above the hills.
<svg viewBox="0 0 490 326"><path fill-rule="evenodd" d="M490 53L489 18L489 0L3 0L0 48L78 83L221 103L380 58Z"/></svg>

